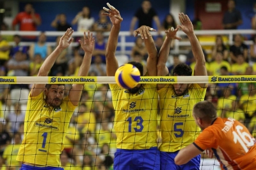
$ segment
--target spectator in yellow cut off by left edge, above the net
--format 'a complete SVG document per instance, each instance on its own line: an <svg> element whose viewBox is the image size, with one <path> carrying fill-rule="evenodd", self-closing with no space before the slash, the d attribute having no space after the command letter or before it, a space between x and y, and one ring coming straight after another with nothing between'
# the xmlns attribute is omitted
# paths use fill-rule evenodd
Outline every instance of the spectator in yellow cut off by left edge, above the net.
<svg viewBox="0 0 256 170"><path fill-rule="evenodd" d="M10 46L0 34L0 66L5 66L7 60L9 59L9 53Z"/></svg>

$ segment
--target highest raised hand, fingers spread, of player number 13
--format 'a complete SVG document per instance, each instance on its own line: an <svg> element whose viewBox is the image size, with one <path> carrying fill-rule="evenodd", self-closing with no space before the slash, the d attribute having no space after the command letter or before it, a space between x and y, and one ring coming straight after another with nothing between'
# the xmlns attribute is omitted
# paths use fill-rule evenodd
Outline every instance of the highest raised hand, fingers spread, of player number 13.
<svg viewBox="0 0 256 170"><path fill-rule="evenodd" d="M106 15L110 18L113 25L119 25L123 21L123 18L120 15L120 12L116 10L114 6L111 6L109 3L107 3L108 8L103 7L103 10L107 11L108 13L102 13L102 15Z"/></svg>

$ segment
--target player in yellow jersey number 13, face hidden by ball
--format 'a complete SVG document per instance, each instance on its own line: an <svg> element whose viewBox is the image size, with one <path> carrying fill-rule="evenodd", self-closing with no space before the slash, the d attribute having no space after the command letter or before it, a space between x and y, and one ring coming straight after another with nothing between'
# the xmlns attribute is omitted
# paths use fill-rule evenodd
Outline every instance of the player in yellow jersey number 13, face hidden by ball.
<svg viewBox="0 0 256 170"><path fill-rule="evenodd" d="M104 8L113 26L111 28L106 48L107 75L115 76L118 62L115 57L120 31L121 18L118 10L108 4L110 10ZM157 74L157 50L154 39L150 36L150 27L140 27L148 50L148 76ZM143 66L138 62L129 62L138 67L141 76ZM134 89L121 89L116 84L110 84L113 106L115 108L114 128L116 133L116 153L114 169L160 169L160 154L157 150L157 87L154 84L139 84Z"/></svg>

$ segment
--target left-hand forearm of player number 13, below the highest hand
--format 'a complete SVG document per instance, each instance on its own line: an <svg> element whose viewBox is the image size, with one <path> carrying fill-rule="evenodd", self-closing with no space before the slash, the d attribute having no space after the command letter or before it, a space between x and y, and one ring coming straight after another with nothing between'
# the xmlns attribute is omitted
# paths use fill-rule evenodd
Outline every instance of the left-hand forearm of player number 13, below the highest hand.
<svg viewBox="0 0 256 170"><path fill-rule="evenodd" d="M118 34L121 25L113 25L109 34L108 45L106 48L106 57L115 57L116 46L118 43Z"/></svg>

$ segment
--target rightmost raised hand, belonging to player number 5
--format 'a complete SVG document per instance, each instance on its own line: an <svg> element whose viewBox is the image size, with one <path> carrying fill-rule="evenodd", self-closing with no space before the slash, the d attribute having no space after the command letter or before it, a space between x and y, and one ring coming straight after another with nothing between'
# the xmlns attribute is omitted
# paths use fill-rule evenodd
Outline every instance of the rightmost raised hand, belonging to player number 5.
<svg viewBox="0 0 256 170"><path fill-rule="evenodd" d="M191 20L189 19L188 15L184 15L184 13L179 13L179 19L181 25L177 25L183 32L187 35L194 33L194 28Z"/></svg>

